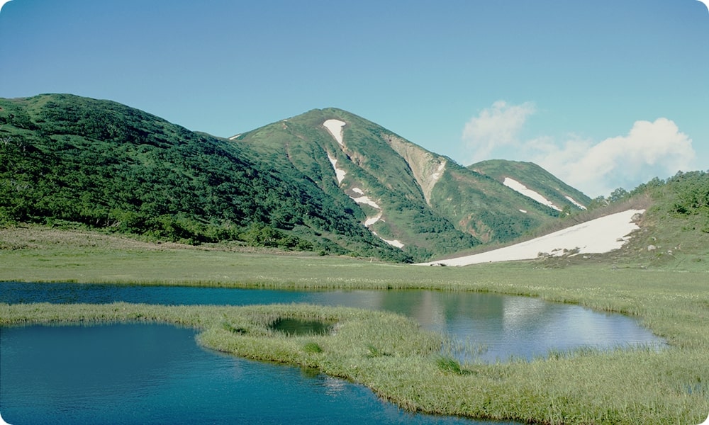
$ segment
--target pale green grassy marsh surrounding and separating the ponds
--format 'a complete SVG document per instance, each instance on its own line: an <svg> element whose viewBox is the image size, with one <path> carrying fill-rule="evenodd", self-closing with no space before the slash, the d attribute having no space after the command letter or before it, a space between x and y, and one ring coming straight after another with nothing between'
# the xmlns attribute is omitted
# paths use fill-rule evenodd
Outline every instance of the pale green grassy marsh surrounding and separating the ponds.
<svg viewBox="0 0 709 425"><path fill-rule="evenodd" d="M160 246L74 234L0 233L0 280L268 288L435 288L572 302L635 316L669 341L644 349L561 353L530 362L455 365L440 339L392 314L330 307L1 305L5 324L157 320L201 329L201 344L308 365L362 382L410 409L542 424L699 424L709 413L709 273L540 263L466 268L369 263ZM102 236L103 237L103 236ZM21 240L22 239L22 240ZM30 240L31 239L31 240ZM138 244L136 246L135 244ZM279 314L334 320L333 335L284 336ZM316 346L319 348L316 348Z"/></svg>

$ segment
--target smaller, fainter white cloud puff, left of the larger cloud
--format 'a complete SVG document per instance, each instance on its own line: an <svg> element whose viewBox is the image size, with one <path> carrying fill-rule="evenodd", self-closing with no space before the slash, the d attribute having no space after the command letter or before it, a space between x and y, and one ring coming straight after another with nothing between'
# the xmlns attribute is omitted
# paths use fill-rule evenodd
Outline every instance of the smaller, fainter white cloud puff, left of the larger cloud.
<svg viewBox="0 0 709 425"><path fill-rule="evenodd" d="M471 152L469 163L490 159L494 149L519 143L518 134L527 117L535 112L533 103L508 105L496 101L491 108L471 118L463 129L462 140Z"/></svg>

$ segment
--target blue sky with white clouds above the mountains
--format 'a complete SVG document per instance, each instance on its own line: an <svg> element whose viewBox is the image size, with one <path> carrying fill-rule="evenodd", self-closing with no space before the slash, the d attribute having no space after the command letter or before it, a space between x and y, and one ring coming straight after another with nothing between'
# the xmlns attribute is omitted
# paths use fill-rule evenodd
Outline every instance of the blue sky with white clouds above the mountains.
<svg viewBox="0 0 709 425"><path fill-rule="evenodd" d="M12 0L0 97L106 98L229 137L334 106L589 196L709 169L698 0Z"/></svg>

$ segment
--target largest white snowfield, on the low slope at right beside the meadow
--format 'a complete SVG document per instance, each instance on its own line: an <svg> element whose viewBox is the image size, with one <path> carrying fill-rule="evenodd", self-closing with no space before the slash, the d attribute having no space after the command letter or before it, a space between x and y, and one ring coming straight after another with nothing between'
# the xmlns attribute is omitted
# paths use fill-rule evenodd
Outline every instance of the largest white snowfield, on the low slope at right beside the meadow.
<svg viewBox="0 0 709 425"><path fill-rule="evenodd" d="M623 246L629 239L628 234L638 229L632 217L644 211L618 212L512 246L456 259L420 263L420 265L469 266L498 261L530 260L537 258L540 253L560 256L564 254L564 249L577 248L579 254L601 254Z"/></svg>

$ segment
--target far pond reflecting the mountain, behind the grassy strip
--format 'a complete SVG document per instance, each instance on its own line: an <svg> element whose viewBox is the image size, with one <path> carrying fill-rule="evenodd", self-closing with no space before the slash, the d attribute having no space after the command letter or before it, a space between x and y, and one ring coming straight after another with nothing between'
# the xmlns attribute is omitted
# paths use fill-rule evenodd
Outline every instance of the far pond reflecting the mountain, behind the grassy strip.
<svg viewBox="0 0 709 425"><path fill-rule="evenodd" d="M163 305L254 305L307 302L316 305L386 310L416 319L422 327L450 334L483 350L474 361L546 356L549 350L579 346L609 348L661 339L636 320L593 312L578 305L489 293L433 290L291 291L175 286L0 283L0 302ZM464 359L461 360L471 360Z"/></svg>

